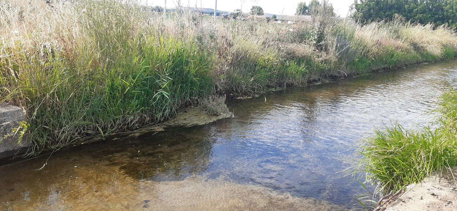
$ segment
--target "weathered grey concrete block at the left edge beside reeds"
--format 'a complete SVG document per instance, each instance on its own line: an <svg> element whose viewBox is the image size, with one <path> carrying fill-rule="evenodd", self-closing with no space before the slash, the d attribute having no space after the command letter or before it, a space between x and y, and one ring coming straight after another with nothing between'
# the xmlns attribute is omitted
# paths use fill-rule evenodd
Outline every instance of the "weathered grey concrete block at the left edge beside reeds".
<svg viewBox="0 0 457 211"><path fill-rule="evenodd" d="M17 127L19 122L26 120L24 111L17 107L8 104L0 104L0 137L11 133L12 128ZM28 144L22 140L21 145L17 143L19 134L14 137L8 137L1 140L0 143L0 158L14 156L27 149Z"/></svg>

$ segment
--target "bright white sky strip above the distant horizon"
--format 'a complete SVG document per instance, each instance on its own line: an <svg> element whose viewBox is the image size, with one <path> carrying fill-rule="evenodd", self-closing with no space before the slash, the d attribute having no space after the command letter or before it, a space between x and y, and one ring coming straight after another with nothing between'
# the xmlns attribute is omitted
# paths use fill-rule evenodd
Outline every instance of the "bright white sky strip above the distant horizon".
<svg viewBox="0 0 457 211"><path fill-rule="evenodd" d="M178 0L167 0L167 8L174 8ZM306 1L308 5L310 0L218 0L218 10L234 11L241 9L244 12L250 11L252 5L258 5L263 8L265 13L277 15L293 15L297 9L298 2ZM146 0L147 5L164 6L165 0ZM215 0L181 0L182 6L214 8ZM333 4L335 12L345 17L349 11L349 6L354 0L329 0Z"/></svg>

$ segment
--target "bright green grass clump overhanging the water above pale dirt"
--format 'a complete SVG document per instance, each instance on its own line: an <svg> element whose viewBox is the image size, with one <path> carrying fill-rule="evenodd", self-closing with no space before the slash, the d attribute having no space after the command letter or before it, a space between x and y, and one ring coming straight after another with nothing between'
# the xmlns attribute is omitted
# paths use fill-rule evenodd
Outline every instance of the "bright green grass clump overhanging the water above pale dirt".
<svg viewBox="0 0 457 211"><path fill-rule="evenodd" d="M377 191L397 191L456 166L457 90L446 90L434 112L438 118L432 128L407 130L393 124L364 141L356 169L379 185Z"/></svg>

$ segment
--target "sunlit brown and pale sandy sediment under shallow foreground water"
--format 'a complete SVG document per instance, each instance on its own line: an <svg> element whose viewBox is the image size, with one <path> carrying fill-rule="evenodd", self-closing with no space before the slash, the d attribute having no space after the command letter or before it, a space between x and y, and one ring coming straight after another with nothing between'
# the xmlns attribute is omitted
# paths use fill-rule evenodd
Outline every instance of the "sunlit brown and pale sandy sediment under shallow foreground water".
<svg viewBox="0 0 457 211"><path fill-rule="evenodd" d="M30 177L28 184L17 184L15 179L3 183L9 185L0 190L0 210L339 209L322 200L279 194L260 185L236 184L228 179L136 179L125 174L120 166L105 162L50 165L45 170L30 171Z"/></svg>

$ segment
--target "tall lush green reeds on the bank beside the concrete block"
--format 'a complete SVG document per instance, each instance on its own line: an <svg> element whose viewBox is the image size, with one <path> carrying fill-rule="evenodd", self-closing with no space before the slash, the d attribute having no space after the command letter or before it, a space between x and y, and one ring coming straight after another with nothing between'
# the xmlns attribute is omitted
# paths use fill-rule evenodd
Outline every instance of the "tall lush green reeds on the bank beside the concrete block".
<svg viewBox="0 0 457 211"><path fill-rule="evenodd" d="M172 37L146 37L142 46L137 43L135 39L123 43L127 49L120 49L125 53L110 56L116 63L63 53L49 53L46 63L34 66L17 63L14 57L3 60L13 72L35 75L14 83L31 112L29 130L31 137L39 137L33 142L37 149L164 121L190 99L212 93L210 60L196 53L194 44ZM91 58L84 69L72 62L85 56ZM15 57L43 63L25 53Z"/></svg>

